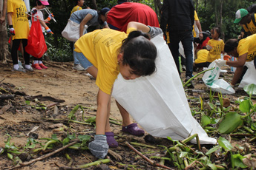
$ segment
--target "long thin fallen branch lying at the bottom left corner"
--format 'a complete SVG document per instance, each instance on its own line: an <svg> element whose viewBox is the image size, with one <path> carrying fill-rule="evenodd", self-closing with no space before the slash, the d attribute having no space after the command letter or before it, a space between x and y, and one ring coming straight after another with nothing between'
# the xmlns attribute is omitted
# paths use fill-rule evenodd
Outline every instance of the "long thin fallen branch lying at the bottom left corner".
<svg viewBox="0 0 256 170"><path fill-rule="evenodd" d="M53 154L56 154L56 153L58 153L58 152L61 152L62 150L66 149L66 148L68 148L69 146L72 146L73 144L76 144L76 143L78 143L78 142L79 142L79 139L73 141L72 143L69 143L69 144L66 145L66 146L63 146L63 147L60 148L60 149L55 150L54 152L50 152L49 154L42 155L41 157L38 157L38 158L33 159L33 160L30 160L29 162L26 162L26 163L19 163L19 164L20 164L19 166L15 166L15 167L13 167L13 168L11 168L11 169L17 169L17 168L20 168L20 167L22 167L22 166L28 166L28 165L30 165L31 163L34 163L34 162L36 162L36 161L44 160L45 158L50 157L50 156L52 156ZM10 170L10 169L7 169L7 170Z"/></svg>

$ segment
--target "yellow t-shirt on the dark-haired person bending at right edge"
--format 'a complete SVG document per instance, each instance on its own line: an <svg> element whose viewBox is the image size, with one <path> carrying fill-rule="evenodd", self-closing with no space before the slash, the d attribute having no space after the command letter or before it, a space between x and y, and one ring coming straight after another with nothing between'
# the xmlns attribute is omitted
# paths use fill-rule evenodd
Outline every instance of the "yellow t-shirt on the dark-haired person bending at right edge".
<svg viewBox="0 0 256 170"><path fill-rule="evenodd" d="M241 39L237 52L239 56L247 53L246 61L252 61L256 57L256 34Z"/></svg>

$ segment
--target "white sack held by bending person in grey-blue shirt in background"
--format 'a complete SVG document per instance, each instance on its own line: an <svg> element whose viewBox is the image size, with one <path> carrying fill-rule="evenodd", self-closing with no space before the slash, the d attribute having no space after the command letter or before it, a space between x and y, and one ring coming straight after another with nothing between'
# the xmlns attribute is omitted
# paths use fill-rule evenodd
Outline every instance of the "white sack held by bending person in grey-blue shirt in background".
<svg viewBox="0 0 256 170"><path fill-rule="evenodd" d="M84 28L84 33L86 33L86 29L88 28L87 25L85 25ZM79 29L80 29L80 24L77 24L74 21L71 21L68 19L68 24L66 25L65 29L62 31L62 36L69 41L76 42L79 39Z"/></svg>

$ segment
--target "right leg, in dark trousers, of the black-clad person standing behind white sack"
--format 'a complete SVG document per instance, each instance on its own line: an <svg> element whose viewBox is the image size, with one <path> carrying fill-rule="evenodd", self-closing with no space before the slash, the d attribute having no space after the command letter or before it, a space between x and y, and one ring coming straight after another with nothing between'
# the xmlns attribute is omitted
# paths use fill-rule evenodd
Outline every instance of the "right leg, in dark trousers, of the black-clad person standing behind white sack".
<svg viewBox="0 0 256 170"><path fill-rule="evenodd" d="M193 73L193 35L192 32L183 33L181 40L186 55L186 77L191 78Z"/></svg>

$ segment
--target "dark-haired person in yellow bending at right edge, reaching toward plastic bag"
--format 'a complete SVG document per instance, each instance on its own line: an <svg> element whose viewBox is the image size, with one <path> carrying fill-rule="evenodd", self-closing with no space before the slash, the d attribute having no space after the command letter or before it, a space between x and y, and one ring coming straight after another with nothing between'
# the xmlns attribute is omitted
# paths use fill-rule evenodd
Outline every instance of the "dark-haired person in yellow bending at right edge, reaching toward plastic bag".
<svg viewBox="0 0 256 170"><path fill-rule="evenodd" d="M243 78L247 67L244 66L246 61L254 60L256 67L256 44L255 44L256 34L250 35L249 37L243 38L241 40L237 39L229 39L225 43L224 51L228 55L232 55L237 58L237 61L217 61L216 63L222 67L225 64L236 67L237 69L234 72L234 76L232 78L231 86L234 86ZM255 68L256 69L256 68Z"/></svg>

